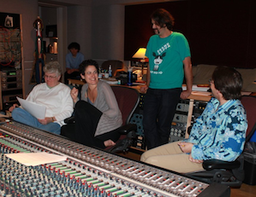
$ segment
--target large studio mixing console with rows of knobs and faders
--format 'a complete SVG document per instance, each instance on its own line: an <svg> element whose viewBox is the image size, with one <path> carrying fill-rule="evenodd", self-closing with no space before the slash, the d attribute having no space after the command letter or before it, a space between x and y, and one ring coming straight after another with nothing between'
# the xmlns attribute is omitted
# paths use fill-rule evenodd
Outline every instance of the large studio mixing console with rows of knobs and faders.
<svg viewBox="0 0 256 197"><path fill-rule="evenodd" d="M125 159L11 121L0 125L0 196L229 196L229 188ZM5 154L47 152L62 162L27 166Z"/></svg>

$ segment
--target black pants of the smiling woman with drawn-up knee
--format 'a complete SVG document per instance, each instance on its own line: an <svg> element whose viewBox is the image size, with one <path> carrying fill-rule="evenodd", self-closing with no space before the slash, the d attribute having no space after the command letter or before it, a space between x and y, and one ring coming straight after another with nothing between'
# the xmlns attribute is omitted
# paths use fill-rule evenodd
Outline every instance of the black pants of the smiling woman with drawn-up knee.
<svg viewBox="0 0 256 197"><path fill-rule="evenodd" d="M86 146L105 148L104 141L116 142L120 134L116 130L94 136L102 112L86 101L78 101L74 109L75 124L63 125L62 133L68 133L68 138ZM72 133L72 134L71 134Z"/></svg>

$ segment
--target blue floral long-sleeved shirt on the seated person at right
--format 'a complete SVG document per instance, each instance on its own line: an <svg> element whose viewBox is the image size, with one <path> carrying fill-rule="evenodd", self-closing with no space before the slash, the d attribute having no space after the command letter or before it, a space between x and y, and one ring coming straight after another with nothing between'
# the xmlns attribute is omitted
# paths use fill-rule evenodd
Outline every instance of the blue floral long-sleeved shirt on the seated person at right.
<svg viewBox="0 0 256 197"><path fill-rule="evenodd" d="M247 131L247 115L239 100L219 106L211 98L201 116L193 124L185 142L193 143L193 159L235 160L242 152Z"/></svg>

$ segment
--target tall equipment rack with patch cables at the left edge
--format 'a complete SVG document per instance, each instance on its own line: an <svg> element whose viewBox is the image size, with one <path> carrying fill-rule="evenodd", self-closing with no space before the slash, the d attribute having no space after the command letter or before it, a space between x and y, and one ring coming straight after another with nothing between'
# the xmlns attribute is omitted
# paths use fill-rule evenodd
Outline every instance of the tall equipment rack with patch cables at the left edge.
<svg viewBox="0 0 256 197"><path fill-rule="evenodd" d="M0 110L23 98L20 14L0 12Z"/></svg>

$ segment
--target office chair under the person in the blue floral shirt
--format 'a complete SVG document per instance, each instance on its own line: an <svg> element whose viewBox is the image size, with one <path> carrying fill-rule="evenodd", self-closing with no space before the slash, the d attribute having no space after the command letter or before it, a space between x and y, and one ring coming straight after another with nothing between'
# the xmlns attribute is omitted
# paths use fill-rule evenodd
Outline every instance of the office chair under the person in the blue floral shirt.
<svg viewBox="0 0 256 197"><path fill-rule="evenodd" d="M256 130L256 97L242 96L241 103L247 112L247 137L248 142ZM204 181L205 183L221 183L232 188L240 188L241 183L245 177L244 169L244 155L241 154L235 161L222 161L218 159L209 159L203 162L205 171L187 173L188 177Z"/></svg>

